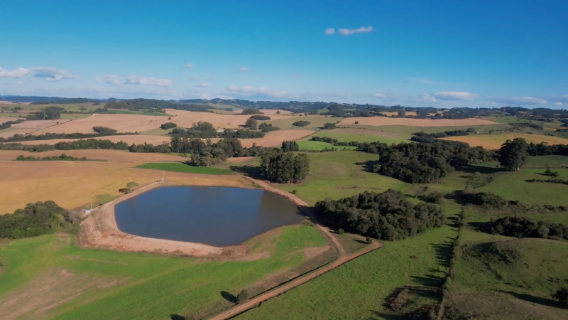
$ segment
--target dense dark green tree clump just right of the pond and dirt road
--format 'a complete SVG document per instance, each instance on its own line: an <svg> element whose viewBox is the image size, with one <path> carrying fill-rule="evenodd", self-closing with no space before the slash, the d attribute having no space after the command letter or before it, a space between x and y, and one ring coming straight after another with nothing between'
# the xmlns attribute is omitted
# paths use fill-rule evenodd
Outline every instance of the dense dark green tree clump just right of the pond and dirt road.
<svg viewBox="0 0 568 320"><path fill-rule="evenodd" d="M332 228L380 240L401 240L444 225L439 207L427 203L414 205L394 190L320 201L315 210L322 222Z"/></svg>

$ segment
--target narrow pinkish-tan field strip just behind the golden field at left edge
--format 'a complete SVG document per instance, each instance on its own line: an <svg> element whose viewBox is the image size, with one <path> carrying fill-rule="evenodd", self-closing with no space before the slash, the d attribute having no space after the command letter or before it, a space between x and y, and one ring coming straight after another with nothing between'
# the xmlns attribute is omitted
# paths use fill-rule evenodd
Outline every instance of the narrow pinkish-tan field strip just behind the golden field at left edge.
<svg viewBox="0 0 568 320"><path fill-rule="evenodd" d="M75 156L92 160L107 160L110 162L118 162L120 164L145 164L147 162L160 162L160 161L187 161L187 158L182 156L174 156L173 154L142 154L122 150L51 150L44 152L29 152L29 151L16 151L16 150L0 150L0 160L13 160L17 156L60 156L67 154L67 156ZM238 159L238 158L237 158Z"/></svg>

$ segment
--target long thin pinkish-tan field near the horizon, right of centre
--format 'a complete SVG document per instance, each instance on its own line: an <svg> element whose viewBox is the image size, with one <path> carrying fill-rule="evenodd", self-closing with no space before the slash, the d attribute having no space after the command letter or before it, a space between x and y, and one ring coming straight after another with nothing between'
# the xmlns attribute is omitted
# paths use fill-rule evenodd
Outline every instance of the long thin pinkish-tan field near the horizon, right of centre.
<svg viewBox="0 0 568 320"><path fill-rule="evenodd" d="M341 124L359 124L370 126L394 126L403 125L411 127L459 127L475 126L482 124L497 124L486 119L413 119L413 118L388 118L388 117L354 117L343 119Z"/></svg>

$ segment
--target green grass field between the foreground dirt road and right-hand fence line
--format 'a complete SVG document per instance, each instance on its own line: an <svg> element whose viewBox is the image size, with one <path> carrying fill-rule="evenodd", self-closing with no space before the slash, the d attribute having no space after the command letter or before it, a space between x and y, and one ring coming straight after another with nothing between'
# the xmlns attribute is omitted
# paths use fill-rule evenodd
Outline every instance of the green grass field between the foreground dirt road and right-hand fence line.
<svg viewBox="0 0 568 320"><path fill-rule="evenodd" d="M428 230L414 238L386 242L384 247L337 267L236 319L398 319L383 306L395 289L414 286L406 310L435 304L447 270L452 228ZM285 314L285 316L284 316Z"/></svg>

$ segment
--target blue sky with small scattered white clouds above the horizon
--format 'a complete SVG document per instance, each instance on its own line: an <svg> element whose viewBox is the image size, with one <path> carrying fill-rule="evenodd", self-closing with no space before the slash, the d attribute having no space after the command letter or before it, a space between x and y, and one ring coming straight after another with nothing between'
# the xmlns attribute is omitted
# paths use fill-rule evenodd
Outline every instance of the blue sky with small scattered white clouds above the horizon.
<svg viewBox="0 0 568 320"><path fill-rule="evenodd" d="M568 105L568 1L0 0L0 95Z"/></svg>

